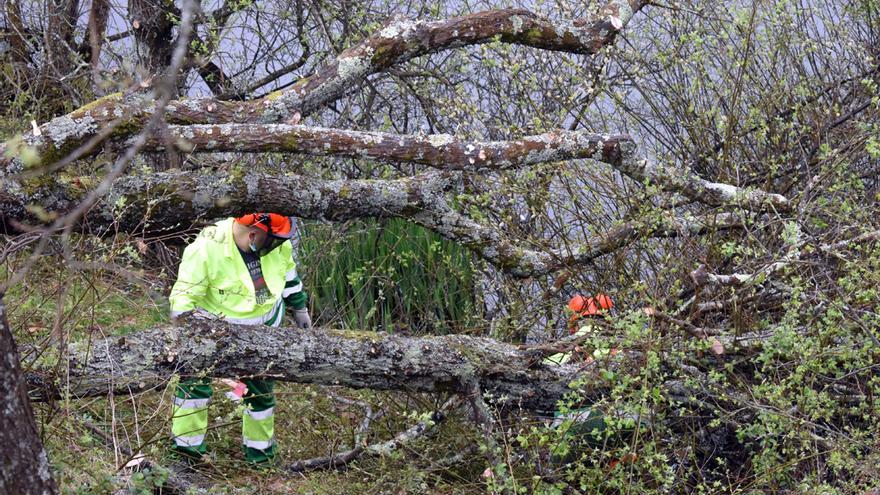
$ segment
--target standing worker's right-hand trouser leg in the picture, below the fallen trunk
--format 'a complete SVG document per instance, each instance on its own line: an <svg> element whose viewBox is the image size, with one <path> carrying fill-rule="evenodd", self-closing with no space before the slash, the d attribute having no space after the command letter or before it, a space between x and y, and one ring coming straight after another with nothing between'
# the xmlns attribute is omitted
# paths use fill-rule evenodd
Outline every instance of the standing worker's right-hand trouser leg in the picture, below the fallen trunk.
<svg viewBox="0 0 880 495"><path fill-rule="evenodd" d="M248 462L275 456L275 381L242 380L248 387L241 417L241 439Z"/></svg>

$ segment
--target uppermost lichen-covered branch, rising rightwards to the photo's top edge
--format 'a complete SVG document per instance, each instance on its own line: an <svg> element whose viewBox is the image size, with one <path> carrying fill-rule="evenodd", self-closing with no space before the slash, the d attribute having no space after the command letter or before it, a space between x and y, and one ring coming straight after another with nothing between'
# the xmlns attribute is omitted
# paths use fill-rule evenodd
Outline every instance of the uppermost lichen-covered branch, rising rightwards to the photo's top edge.
<svg viewBox="0 0 880 495"><path fill-rule="evenodd" d="M295 112L306 116L339 99L371 74L422 55L495 39L546 50L596 53L613 42L646 4L643 0L612 0L595 18L568 22L550 21L520 9L489 10L435 22L396 19L289 89L249 101L172 101L165 118L172 124L191 125L272 123ZM23 144L43 163L51 163L110 126L111 138L134 135L155 111L153 100L149 92L142 91L105 96L40 125L38 134L26 133ZM7 153L7 147L0 145L0 168L6 174L17 173L22 163L18 153Z"/></svg>

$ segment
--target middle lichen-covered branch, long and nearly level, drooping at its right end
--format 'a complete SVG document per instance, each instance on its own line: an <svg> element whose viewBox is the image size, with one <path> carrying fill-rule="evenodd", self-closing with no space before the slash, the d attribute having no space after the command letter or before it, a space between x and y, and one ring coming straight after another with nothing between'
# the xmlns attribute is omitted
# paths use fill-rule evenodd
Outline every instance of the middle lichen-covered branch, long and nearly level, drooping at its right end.
<svg viewBox="0 0 880 495"><path fill-rule="evenodd" d="M710 182L694 172L641 159L625 134L591 134L557 130L511 141L467 142L447 134L408 136L286 124L171 126L148 146L162 149L177 143L192 152L290 151L310 155L371 158L419 163L444 170L504 170L538 163L589 158L623 174L709 205L750 210L791 207L780 194Z"/></svg>

